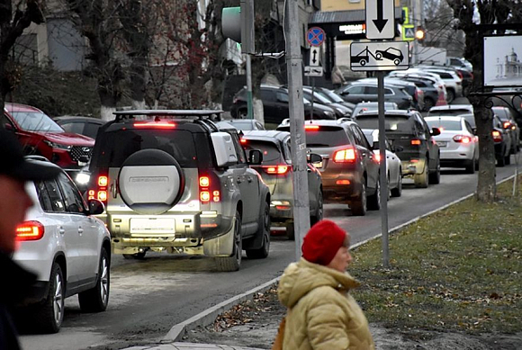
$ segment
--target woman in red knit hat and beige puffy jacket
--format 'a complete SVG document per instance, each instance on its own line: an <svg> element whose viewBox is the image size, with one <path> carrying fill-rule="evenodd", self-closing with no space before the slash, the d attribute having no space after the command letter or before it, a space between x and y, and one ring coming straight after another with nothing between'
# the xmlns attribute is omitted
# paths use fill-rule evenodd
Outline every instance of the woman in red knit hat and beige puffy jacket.
<svg viewBox="0 0 522 350"><path fill-rule="evenodd" d="M347 274L350 236L330 220L306 234L302 258L284 270L277 294L287 308L284 350L372 350L363 310L349 291L359 284Z"/></svg>

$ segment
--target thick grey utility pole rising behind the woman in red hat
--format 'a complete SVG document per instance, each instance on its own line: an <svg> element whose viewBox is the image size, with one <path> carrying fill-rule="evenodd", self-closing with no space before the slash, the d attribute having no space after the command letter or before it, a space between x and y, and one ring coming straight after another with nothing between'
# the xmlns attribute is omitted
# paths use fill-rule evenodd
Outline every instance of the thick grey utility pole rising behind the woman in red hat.
<svg viewBox="0 0 522 350"><path fill-rule="evenodd" d="M284 26L286 33L290 133L292 135L293 222L295 229L296 260L299 260L302 256L302 238L310 229L310 200L308 197L306 136L304 133L304 105L302 94L302 56L299 40L298 9L298 0L286 1Z"/></svg>

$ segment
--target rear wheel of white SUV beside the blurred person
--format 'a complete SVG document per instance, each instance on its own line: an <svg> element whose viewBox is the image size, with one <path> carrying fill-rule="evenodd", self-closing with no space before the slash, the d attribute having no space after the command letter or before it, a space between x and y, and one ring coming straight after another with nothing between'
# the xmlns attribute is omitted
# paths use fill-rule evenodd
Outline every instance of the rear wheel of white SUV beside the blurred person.
<svg viewBox="0 0 522 350"><path fill-rule="evenodd" d="M42 332L58 333L64 314L65 281L61 266L52 265L49 278L49 293L34 315L34 322Z"/></svg>

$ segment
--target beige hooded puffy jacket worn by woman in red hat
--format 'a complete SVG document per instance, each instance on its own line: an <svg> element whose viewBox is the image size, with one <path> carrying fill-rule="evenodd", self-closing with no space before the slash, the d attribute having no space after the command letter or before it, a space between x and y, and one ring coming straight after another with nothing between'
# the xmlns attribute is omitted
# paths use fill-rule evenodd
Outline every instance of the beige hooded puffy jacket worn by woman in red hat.
<svg viewBox="0 0 522 350"><path fill-rule="evenodd" d="M357 285L349 274L303 258L289 265L277 291L288 308L283 349L374 349L365 314L348 293Z"/></svg>

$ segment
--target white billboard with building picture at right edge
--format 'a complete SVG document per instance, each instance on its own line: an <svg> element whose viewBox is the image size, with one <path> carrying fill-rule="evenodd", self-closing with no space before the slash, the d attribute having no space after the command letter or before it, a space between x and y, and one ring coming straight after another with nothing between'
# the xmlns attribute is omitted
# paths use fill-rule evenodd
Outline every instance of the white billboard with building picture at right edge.
<svg viewBox="0 0 522 350"><path fill-rule="evenodd" d="M522 35L484 36L484 86L522 86Z"/></svg>

